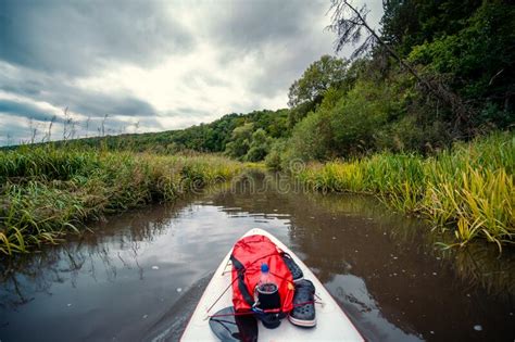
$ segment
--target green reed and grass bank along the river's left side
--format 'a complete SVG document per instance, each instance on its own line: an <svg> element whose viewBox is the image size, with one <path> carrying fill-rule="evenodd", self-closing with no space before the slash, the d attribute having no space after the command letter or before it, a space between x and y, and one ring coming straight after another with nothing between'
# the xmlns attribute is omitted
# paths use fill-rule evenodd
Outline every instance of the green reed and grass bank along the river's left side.
<svg viewBox="0 0 515 342"><path fill-rule="evenodd" d="M221 156L163 156L23 147L0 151L0 252L56 243L86 223L172 201L229 180L243 164Z"/></svg>

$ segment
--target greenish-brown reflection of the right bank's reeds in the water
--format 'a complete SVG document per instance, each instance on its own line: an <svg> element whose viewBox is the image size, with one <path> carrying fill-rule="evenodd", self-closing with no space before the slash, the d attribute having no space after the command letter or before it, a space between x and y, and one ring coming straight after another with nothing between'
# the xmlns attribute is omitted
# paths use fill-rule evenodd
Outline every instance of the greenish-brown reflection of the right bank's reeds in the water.
<svg viewBox="0 0 515 342"><path fill-rule="evenodd" d="M437 242L450 242L445 233L431 231L429 224L390 213L378 201L368 197L311 194L313 205L323 207L330 215L355 216L376 221L376 228L398 248L435 257L440 267L451 268L453 276L466 282L469 290L487 290L490 295L511 301L515 296L515 251L506 248L500 255L497 245L483 242L465 248L442 250Z"/></svg>

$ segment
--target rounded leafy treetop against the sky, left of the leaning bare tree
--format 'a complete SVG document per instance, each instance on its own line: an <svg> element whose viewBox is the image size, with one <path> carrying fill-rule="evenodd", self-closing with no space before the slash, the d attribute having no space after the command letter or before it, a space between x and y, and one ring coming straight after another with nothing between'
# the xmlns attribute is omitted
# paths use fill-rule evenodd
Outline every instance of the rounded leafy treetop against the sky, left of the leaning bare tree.
<svg viewBox="0 0 515 342"><path fill-rule="evenodd" d="M343 81L348 65L348 61L323 55L290 86L288 105L293 107L306 102L321 103L329 88L338 87Z"/></svg>

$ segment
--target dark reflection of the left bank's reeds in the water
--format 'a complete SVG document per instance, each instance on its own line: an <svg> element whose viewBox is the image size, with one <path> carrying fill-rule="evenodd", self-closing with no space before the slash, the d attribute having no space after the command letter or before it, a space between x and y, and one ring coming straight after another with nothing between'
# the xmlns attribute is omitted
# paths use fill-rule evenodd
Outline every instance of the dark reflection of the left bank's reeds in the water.
<svg viewBox="0 0 515 342"><path fill-rule="evenodd" d="M120 268L137 269L142 242L151 242L165 233L172 219L179 215L187 202L173 206L149 207L133 214L110 217L95 227L93 232L56 246L45 246L41 252L16 255L0 263L0 305L15 307L33 300L35 292L49 293L53 283L70 281L76 287L80 275L95 281L99 271L113 281ZM113 251L114 250L114 251ZM98 265L102 269L98 269Z"/></svg>

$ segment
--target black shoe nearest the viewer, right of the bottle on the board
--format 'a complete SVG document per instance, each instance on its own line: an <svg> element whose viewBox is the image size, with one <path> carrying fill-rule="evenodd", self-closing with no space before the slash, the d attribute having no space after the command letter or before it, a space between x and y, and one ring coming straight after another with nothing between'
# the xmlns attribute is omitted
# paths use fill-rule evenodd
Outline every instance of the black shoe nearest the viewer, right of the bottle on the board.
<svg viewBox="0 0 515 342"><path fill-rule="evenodd" d="M304 328L312 328L316 325L315 287L310 280L302 279L296 283L293 309L288 319L291 324Z"/></svg>

